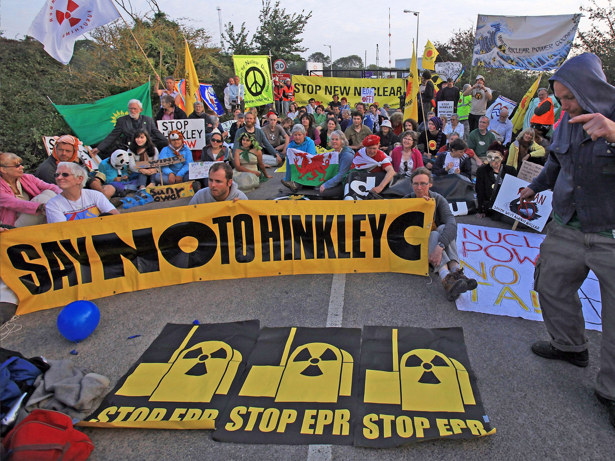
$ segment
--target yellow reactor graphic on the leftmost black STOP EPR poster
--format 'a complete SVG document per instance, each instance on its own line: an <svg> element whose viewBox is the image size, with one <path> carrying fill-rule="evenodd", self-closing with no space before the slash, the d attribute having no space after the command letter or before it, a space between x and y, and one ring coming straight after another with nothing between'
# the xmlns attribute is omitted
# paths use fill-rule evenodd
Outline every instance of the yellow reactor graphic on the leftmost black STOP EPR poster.
<svg viewBox="0 0 615 461"><path fill-rule="evenodd" d="M186 347L199 326L192 327L167 363L140 363L116 395L147 396L149 401L209 402L226 394L242 360L223 341Z"/></svg>

